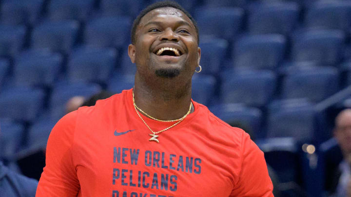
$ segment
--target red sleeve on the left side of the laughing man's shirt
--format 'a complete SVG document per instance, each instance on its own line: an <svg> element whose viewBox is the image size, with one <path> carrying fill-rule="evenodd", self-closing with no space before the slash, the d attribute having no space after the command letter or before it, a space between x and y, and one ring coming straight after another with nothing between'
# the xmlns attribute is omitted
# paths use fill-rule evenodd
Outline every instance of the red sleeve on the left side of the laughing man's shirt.
<svg viewBox="0 0 351 197"><path fill-rule="evenodd" d="M36 197L77 197L79 181L72 157L76 119L77 111L71 112L52 129Z"/></svg>

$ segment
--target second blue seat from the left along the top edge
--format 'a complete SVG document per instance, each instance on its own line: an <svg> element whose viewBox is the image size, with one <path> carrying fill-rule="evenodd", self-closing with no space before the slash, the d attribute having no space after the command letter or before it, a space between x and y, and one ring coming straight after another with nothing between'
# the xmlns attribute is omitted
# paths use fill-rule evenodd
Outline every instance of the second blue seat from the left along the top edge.
<svg viewBox="0 0 351 197"><path fill-rule="evenodd" d="M94 0L50 0L48 18L85 21L93 8Z"/></svg>

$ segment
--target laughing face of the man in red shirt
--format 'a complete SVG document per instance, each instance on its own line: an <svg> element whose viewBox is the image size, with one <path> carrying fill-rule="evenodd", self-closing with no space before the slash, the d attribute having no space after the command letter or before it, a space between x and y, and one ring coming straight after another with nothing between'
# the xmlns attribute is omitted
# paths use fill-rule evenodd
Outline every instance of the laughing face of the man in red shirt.
<svg viewBox="0 0 351 197"><path fill-rule="evenodd" d="M194 24L172 7L157 8L141 18L136 43L128 52L138 72L147 77L191 77L200 61Z"/></svg>

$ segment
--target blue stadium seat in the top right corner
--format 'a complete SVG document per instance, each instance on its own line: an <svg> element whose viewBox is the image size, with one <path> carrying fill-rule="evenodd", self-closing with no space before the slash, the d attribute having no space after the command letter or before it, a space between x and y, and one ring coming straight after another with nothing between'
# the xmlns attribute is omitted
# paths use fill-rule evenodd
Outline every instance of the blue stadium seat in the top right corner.
<svg viewBox="0 0 351 197"><path fill-rule="evenodd" d="M309 28L348 30L351 23L351 2L348 0L320 0L307 11L305 25Z"/></svg>

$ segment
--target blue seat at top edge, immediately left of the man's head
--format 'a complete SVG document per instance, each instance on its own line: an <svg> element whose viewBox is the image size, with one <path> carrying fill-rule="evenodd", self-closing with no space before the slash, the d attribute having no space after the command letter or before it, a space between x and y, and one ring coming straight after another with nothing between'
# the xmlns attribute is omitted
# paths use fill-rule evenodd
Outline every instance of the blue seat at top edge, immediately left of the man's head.
<svg viewBox="0 0 351 197"><path fill-rule="evenodd" d="M143 0L101 0L100 9L104 16L135 17L143 6Z"/></svg>

